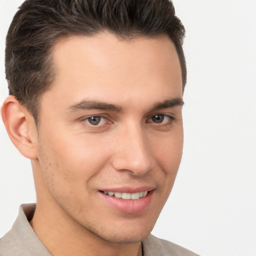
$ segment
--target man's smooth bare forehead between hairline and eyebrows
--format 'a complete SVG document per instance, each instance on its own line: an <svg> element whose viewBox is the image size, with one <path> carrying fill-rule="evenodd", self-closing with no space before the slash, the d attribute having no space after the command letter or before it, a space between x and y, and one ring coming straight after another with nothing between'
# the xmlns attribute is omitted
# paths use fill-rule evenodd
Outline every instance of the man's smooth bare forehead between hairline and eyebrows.
<svg viewBox="0 0 256 256"><path fill-rule="evenodd" d="M167 35L131 40L106 32L72 36L59 41L52 55L57 76L45 94L51 93L61 104L81 97L122 102L143 95L151 102L164 95L182 97L180 64Z"/></svg>

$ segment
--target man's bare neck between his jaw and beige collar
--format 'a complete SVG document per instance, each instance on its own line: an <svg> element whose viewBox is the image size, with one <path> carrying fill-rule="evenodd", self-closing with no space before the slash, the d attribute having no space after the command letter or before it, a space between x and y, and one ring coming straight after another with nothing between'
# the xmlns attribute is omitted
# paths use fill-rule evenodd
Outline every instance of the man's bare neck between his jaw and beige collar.
<svg viewBox="0 0 256 256"><path fill-rule="evenodd" d="M44 207L37 203L30 225L52 255L101 256L102 251L104 251L104 256L141 255L140 242L115 243L106 241L76 221L70 220L68 216L61 213L61 209L51 209L48 207L45 211Z"/></svg>

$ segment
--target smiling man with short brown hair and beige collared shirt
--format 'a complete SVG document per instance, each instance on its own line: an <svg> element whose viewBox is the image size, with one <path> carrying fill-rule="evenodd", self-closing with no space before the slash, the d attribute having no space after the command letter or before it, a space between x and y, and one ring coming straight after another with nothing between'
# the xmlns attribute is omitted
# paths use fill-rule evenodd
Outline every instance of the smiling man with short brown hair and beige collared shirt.
<svg viewBox="0 0 256 256"><path fill-rule="evenodd" d="M31 159L0 255L195 255L150 235L183 144L184 28L168 0L26 0L6 37L8 135Z"/></svg>

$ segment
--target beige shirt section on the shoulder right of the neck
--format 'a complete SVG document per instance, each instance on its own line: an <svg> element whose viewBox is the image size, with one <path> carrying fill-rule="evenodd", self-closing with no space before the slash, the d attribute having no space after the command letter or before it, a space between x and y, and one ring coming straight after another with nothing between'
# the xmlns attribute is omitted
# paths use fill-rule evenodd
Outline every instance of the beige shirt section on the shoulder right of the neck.
<svg viewBox="0 0 256 256"><path fill-rule="evenodd" d="M198 256L198 254L181 247L173 242L157 238L150 234L142 241L144 256Z"/></svg>

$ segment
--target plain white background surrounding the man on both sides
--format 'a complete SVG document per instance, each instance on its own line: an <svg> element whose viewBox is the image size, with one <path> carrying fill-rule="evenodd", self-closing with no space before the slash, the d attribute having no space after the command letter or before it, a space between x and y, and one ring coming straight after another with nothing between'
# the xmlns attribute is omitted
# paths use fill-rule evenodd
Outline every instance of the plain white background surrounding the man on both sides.
<svg viewBox="0 0 256 256"><path fill-rule="evenodd" d="M0 0L4 37L22 0ZM184 150L153 234L203 256L256 255L256 0L173 0L186 28ZM0 236L35 201L30 162L0 123Z"/></svg>

